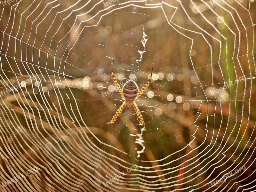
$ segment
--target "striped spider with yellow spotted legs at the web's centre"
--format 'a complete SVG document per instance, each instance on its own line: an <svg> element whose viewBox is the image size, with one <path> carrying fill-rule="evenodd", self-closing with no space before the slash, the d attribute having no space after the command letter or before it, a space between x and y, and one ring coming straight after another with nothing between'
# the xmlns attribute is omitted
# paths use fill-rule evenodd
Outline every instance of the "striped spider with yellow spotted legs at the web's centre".
<svg viewBox="0 0 256 192"><path fill-rule="evenodd" d="M152 79L152 73L153 73L153 67L154 67L154 63L152 65L152 69L151 69L151 76L148 79L148 82L145 84L144 87L141 88L141 90L138 92L139 88L138 85L135 81L133 80L129 80L124 84L123 89L120 87L120 85L117 83L116 81L116 77L114 75L114 60L113 60L113 65L112 65L112 79L114 81L114 83L116 84L116 87L118 89L118 91L121 93L121 97L124 100L123 104L117 109L116 114L113 116L113 118L111 119L110 122L108 122L107 124L112 124L115 123L117 117L121 114L121 112L123 111L124 107L127 105L128 107L133 106L133 108L135 109L136 115L138 116L140 123L142 125L142 127L145 129L145 122L143 120L143 117L140 113L140 110L138 108L138 106L136 105L135 100L142 95L142 93L147 89L148 85L151 83L151 79Z"/></svg>

